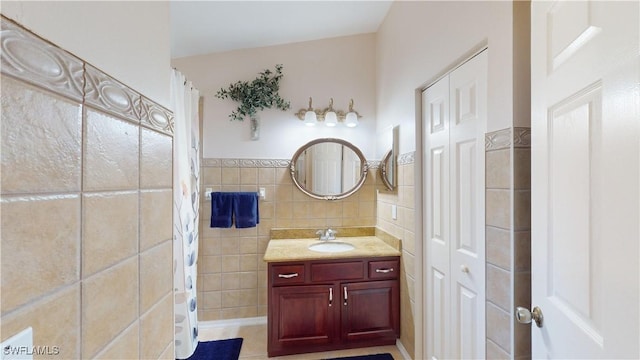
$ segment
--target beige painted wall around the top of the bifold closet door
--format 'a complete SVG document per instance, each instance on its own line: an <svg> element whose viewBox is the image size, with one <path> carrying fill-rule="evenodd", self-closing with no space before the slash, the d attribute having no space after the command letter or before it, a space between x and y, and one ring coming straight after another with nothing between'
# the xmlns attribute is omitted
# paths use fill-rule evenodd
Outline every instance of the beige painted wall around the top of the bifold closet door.
<svg viewBox="0 0 640 360"><path fill-rule="evenodd" d="M489 46L487 131L511 126L516 110L526 105L512 101L513 48L519 43L513 26L508 1L393 3L377 32L377 115L378 128L400 125L401 154L416 150L415 90L482 45Z"/></svg>

